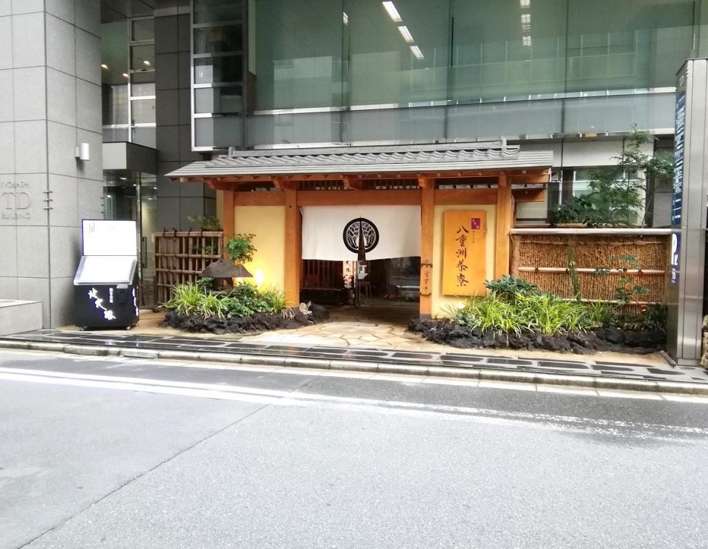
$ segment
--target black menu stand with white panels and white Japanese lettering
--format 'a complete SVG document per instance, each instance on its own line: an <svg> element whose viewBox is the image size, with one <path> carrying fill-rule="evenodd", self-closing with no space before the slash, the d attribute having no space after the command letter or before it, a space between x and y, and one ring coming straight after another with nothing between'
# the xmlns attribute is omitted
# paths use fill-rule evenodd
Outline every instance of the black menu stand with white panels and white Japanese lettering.
<svg viewBox="0 0 708 549"><path fill-rule="evenodd" d="M83 220L83 251L74 276L79 329L130 329L138 323L135 221Z"/></svg>

